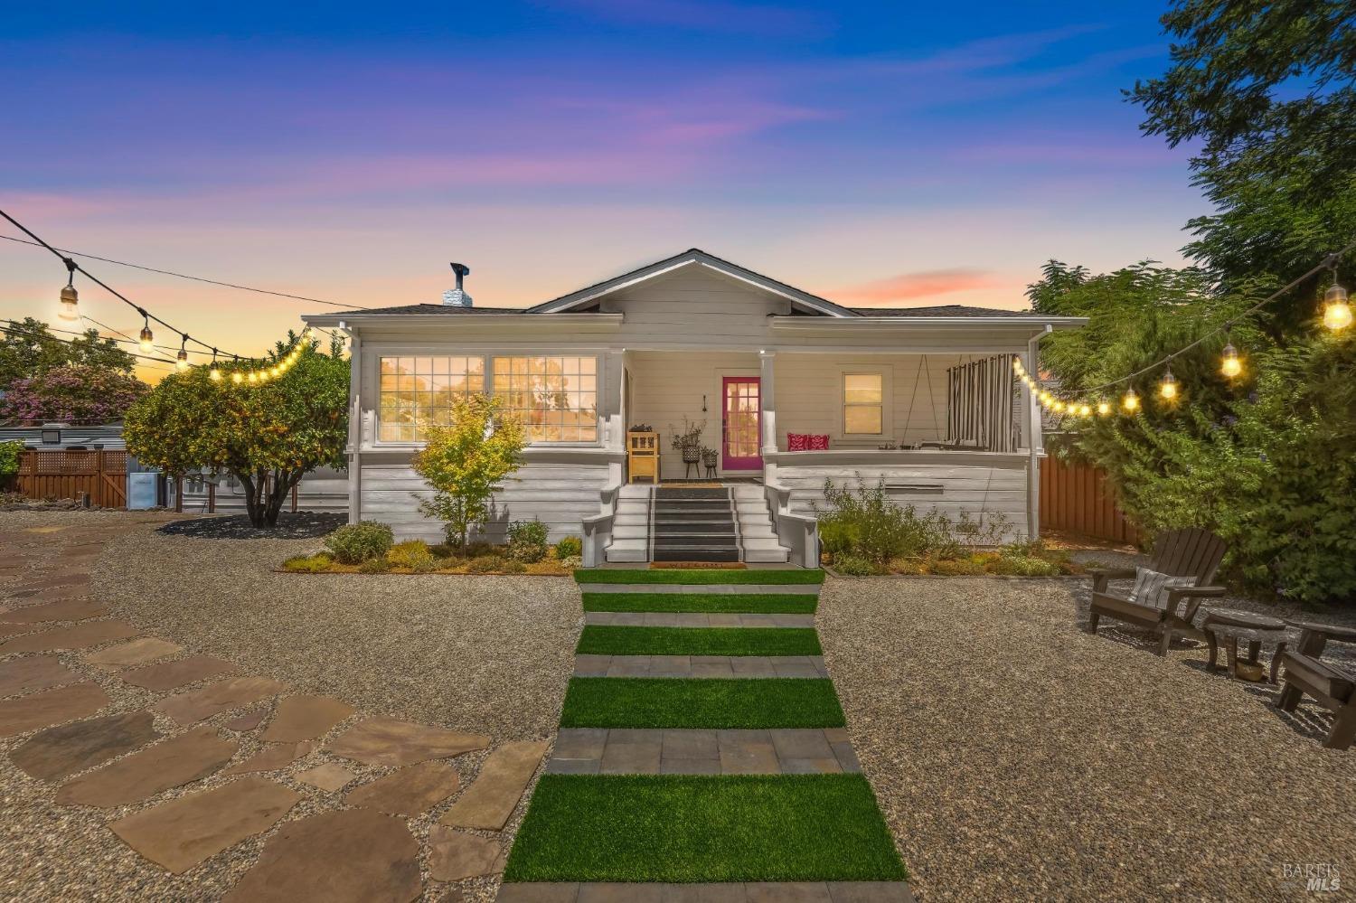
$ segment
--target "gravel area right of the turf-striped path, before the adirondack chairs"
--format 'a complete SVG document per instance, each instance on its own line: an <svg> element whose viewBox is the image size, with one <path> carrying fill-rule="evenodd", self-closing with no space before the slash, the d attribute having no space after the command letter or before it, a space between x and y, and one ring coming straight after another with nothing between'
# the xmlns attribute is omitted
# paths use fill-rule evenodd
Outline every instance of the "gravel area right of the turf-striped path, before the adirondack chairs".
<svg viewBox="0 0 1356 903"><path fill-rule="evenodd" d="M919 900L1280 900L1356 866L1356 751L1306 701L1078 629L1088 582L831 580L818 624Z"/></svg>

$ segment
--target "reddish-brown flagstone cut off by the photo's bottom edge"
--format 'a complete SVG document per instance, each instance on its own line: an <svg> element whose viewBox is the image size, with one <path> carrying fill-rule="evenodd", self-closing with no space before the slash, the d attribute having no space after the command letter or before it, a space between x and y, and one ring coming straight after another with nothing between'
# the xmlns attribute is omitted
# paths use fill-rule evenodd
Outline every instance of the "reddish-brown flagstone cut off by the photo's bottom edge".
<svg viewBox="0 0 1356 903"><path fill-rule="evenodd" d="M410 903L423 894L419 843L396 818L344 809L278 830L226 903Z"/></svg>

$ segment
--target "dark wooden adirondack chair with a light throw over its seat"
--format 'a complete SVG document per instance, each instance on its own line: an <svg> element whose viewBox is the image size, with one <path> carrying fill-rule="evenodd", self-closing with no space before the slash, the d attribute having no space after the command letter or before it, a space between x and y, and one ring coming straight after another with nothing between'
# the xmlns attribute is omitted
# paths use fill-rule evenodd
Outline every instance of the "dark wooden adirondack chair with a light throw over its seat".
<svg viewBox="0 0 1356 903"><path fill-rule="evenodd" d="M1210 582L1215 579L1215 571L1219 569L1219 563L1224 559L1227 548L1224 541L1210 530L1192 527L1161 534L1154 544L1154 557L1149 561L1149 568L1159 574L1193 579L1192 586L1165 588L1166 603L1162 607L1153 601L1131 602L1127 597L1108 593L1108 580L1134 578L1135 568L1092 571L1093 602L1085 629L1089 633L1096 633L1097 621L1101 616L1106 616L1155 630L1159 636L1158 655L1168 655L1168 647L1174 636L1208 640L1205 633L1195 625L1193 618L1196 609L1204 599L1224 595L1224 587L1210 586ZM1178 613L1177 609L1184 599L1186 601L1185 609Z"/></svg>

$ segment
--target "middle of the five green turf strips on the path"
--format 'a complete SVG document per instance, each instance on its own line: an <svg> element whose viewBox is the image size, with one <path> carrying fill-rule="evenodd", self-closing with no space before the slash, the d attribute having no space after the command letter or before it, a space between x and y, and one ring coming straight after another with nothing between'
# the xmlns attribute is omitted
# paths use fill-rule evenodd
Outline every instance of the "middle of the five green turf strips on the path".
<svg viewBox="0 0 1356 903"><path fill-rule="evenodd" d="M583 655L823 655L814 628L647 628L591 624Z"/></svg>

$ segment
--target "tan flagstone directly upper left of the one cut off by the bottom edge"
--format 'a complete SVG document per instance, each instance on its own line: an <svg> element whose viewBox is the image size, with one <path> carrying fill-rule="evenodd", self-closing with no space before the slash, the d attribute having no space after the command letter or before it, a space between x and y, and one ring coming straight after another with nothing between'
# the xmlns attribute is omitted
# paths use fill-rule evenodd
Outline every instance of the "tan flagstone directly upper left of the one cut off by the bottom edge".
<svg viewBox="0 0 1356 903"><path fill-rule="evenodd" d="M145 858L182 875L247 837L267 831L300 799L292 788L251 777L161 803L118 819L108 828Z"/></svg>

